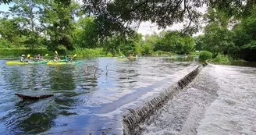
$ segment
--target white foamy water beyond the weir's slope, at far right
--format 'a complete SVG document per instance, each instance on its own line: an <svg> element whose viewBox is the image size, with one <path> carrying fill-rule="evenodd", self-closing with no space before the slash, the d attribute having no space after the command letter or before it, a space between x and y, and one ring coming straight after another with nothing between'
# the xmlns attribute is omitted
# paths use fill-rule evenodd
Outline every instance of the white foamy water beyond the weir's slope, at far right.
<svg viewBox="0 0 256 135"><path fill-rule="evenodd" d="M213 68L221 90L205 112L197 134L256 134L256 68Z"/></svg>

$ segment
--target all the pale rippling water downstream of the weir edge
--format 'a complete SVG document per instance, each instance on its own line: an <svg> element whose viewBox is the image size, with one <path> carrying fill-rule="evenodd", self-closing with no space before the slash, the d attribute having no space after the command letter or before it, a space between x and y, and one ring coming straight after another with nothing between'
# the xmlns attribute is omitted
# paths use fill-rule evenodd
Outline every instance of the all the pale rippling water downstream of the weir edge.
<svg viewBox="0 0 256 135"><path fill-rule="evenodd" d="M209 65L140 125L141 134L256 134L256 68Z"/></svg>

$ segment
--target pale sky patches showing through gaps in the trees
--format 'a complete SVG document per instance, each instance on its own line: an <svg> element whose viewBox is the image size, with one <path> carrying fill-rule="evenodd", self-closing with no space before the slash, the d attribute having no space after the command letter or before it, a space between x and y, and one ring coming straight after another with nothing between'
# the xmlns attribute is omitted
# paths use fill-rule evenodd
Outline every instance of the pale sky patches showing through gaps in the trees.
<svg viewBox="0 0 256 135"><path fill-rule="evenodd" d="M77 0L77 2L82 3L81 0ZM7 12L9 11L9 6L12 6L13 3L10 3L10 5L5 5L5 4L1 4L0 5L0 11L4 11ZM205 9L202 9L202 12L204 12ZM0 15L1 16L1 15ZM183 24L182 23L177 23L172 25L172 27L167 27L165 30L181 30L183 28ZM137 32L139 34L154 34L155 33L159 33L161 32L163 29L159 30L158 26L156 23L151 23L151 22L142 22L140 23L140 27L137 28ZM194 34L194 35L198 35L198 34L202 34L201 32Z"/></svg>

